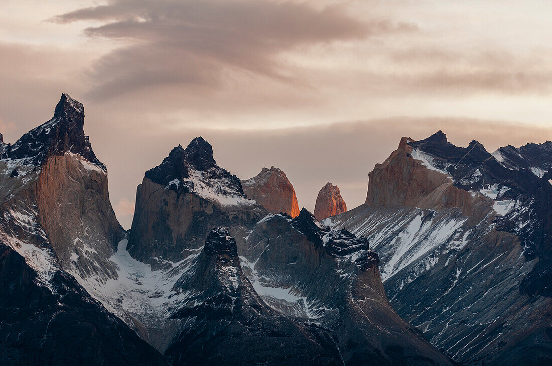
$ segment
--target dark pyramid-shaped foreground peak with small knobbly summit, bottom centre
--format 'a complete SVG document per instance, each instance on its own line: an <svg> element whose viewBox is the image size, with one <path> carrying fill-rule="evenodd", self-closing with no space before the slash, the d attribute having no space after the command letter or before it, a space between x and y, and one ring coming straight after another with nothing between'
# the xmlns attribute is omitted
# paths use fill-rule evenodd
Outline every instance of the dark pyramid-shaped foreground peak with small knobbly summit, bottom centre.
<svg viewBox="0 0 552 366"><path fill-rule="evenodd" d="M327 331L277 314L243 275L236 242L215 228L180 291L198 295L173 318L185 324L165 355L187 364L341 364Z"/></svg>

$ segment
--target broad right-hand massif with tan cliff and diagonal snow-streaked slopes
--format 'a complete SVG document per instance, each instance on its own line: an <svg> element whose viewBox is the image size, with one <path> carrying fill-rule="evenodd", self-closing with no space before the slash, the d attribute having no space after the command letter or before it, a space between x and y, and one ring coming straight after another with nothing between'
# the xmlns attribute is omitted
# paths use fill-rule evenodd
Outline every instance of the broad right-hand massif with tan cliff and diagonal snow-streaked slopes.
<svg viewBox="0 0 552 366"><path fill-rule="evenodd" d="M449 356L547 362L550 163L549 143L489 154L442 132L403 138L366 204L331 223L369 239L391 304Z"/></svg>

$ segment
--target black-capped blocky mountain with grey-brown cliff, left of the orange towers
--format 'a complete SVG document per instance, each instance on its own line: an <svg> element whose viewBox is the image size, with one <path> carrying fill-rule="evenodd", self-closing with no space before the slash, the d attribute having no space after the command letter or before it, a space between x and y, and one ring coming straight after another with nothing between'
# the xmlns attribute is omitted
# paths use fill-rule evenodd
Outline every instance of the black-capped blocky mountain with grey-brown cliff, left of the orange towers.
<svg viewBox="0 0 552 366"><path fill-rule="evenodd" d="M153 265L178 261L201 248L220 225L243 243L247 228L264 215L246 198L240 179L216 165L213 148L199 137L146 172L136 191L128 250Z"/></svg>

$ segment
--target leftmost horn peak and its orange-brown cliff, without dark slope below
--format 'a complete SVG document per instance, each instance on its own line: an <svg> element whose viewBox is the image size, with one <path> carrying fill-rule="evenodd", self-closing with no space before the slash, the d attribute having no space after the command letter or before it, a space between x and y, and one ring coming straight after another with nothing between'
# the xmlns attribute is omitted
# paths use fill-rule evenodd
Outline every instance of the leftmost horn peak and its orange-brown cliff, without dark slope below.
<svg viewBox="0 0 552 366"><path fill-rule="evenodd" d="M108 259L124 232L83 125L82 104L63 94L50 121L2 146L4 217L36 221L64 269L116 278Z"/></svg>

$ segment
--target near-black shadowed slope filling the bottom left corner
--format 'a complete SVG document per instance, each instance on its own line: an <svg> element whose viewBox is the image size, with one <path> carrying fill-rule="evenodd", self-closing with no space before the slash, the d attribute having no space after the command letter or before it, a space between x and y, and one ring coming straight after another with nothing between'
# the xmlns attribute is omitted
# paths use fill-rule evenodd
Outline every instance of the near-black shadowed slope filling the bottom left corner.
<svg viewBox="0 0 552 366"><path fill-rule="evenodd" d="M3 365L166 365L153 347L109 314L70 276L50 287L0 244L0 359Z"/></svg>

